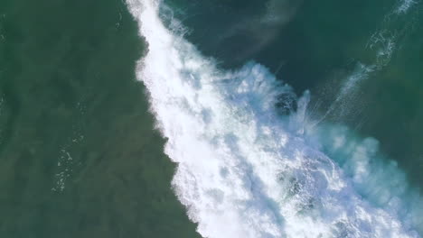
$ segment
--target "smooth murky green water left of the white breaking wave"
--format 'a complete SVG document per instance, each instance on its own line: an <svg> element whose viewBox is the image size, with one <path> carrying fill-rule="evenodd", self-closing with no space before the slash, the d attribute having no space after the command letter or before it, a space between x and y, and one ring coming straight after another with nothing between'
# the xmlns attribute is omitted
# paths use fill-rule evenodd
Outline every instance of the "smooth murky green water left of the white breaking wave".
<svg viewBox="0 0 423 238"><path fill-rule="evenodd" d="M197 237L120 1L0 1L0 236Z"/></svg>

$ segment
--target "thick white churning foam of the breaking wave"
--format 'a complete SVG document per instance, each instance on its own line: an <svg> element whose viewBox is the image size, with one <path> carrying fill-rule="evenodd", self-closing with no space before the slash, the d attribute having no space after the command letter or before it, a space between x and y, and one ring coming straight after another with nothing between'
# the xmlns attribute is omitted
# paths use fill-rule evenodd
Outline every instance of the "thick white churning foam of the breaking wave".
<svg viewBox="0 0 423 238"><path fill-rule="evenodd" d="M174 191L203 237L418 237L421 206L395 166L372 164L375 140L305 130L308 93L281 117L275 105L294 93L268 69L221 71L181 28L164 27L159 2L127 4L148 43L137 78L178 164Z"/></svg>

